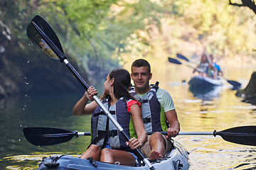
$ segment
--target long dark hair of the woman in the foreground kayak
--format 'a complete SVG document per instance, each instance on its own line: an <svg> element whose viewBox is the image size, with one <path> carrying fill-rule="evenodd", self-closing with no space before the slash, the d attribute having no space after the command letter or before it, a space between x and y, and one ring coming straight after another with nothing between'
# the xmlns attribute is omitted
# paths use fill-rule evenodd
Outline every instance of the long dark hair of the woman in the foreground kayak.
<svg viewBox="0 0 256 170"><path fill-rule="evenodd" d="M114 78L114 96L116 98L121 98L122 96L127 96L135 101L136 98L129 94L129 86L131 84L131 76L126 69L113 69L110 72L110 79Z"/></svg>

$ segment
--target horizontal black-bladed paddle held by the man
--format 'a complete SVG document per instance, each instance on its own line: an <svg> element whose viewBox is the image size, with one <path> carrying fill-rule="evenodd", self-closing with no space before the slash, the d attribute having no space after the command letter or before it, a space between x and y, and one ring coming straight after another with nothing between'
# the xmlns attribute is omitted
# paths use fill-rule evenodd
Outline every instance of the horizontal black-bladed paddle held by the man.
<svg viewBox="0 0 256 170"><path fill-rule="evenodd" d="M63 130L58 128L47 127L34 127L23 128L24 135L28 142L36 146L48 146L56 145L63 142L70 141L73 137L91 135L90 132L72 132L69 130ZM152 135L154 132L147 132L148 135ZM160 132L163 135L167 135L167 132ZM122 131L124 134L124 131ZM240 145L256 146L256 126L240 126L235 128L229 128L217 132L179 132L179 135L220 135L223 140L228 142L237 143ZM125 135L128 139L129 137Z"/></svg>

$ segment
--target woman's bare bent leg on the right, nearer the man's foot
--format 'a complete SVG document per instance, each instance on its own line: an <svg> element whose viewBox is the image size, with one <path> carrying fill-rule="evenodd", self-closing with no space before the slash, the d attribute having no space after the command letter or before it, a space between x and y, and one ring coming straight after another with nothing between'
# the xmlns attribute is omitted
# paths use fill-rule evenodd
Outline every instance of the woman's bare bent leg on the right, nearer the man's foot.
<svg viewBox="0 0 256 170"><path fill-rule="evenodd" d="M119 162L120 164L127 164L128 166L136 166L135 158L132 154L115 149L102 149L100 161L108 163Z"/></svg>

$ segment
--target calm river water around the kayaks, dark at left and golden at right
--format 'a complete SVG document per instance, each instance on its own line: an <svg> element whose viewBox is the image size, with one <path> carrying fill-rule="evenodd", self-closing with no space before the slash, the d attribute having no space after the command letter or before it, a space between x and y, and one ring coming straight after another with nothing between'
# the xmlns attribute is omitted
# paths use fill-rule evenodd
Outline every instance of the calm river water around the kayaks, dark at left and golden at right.
<svg viewBox="0 0 256 170"><path fill-rule="evenodd" d="M256 107L242 103L242 98L235 96L236 91L230 84L206 94L193 94L188 84L181 83L183 79L188 82L191 78L190 68L168 62L149 62L154 63L151 83L159 81L160 88L169 91L174 99L181 131L213 132L256 125ZM127 66L129 70L129 63ZM253 67L223 70L226 78L240 81L242 88L247 85L253 71ZM82 95L27 94L1 100L0 169L36 169L45 156L69 154L78 157L82 154L90 143L90 137L73 137L60 145L38 147L27 142L22 131L25 127L90 131L90 116L77 117L72 113L73 106ZM190 153L190 169L256 169L256 147L226 142L219 136L186 135L175 140Z"/></svg>

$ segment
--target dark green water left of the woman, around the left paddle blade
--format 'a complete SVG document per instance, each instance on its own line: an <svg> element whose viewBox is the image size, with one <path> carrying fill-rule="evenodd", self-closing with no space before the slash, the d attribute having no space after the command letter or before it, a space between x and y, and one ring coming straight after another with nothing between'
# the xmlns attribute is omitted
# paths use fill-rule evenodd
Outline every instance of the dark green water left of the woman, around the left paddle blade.
<svg viewBox="0 0 256 170"><path fill-rule="evenodd" d="M60 145L38 147L31 145L23 135L25 127L90 132L90 116L77 117L72 113L80 96L82 94L46 94L0 100L0 169L36 169L45 156L82 154L90 137L73 137Z"/></svg>

